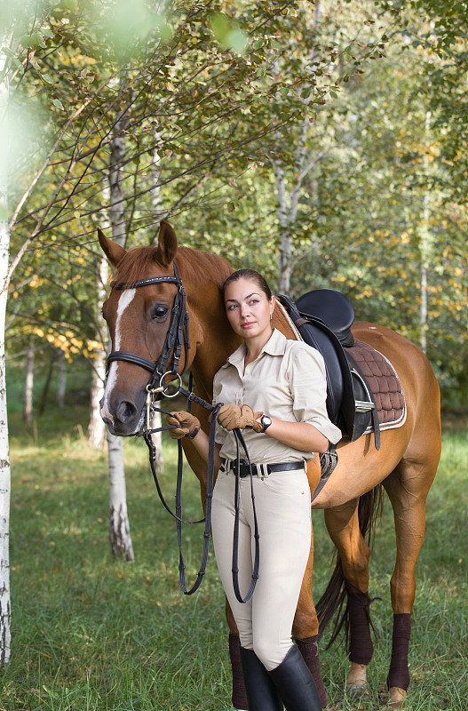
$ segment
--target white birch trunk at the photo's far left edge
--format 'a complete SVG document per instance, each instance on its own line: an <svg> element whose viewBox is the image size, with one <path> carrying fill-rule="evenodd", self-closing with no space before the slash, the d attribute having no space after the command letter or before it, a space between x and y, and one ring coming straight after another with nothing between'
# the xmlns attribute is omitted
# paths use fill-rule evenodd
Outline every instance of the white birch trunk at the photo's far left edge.
<svg viewBox="0 0 468 711"><path fill-rule="evenodd" d="M0 47L7 46L0 36ZM10 492L12 471L6 411L5 318L8 294L10 229L7 220L8 172L8 77L6 57L0 52L0 666L8 664L11 652L12 609L10 598Z"/></svg>

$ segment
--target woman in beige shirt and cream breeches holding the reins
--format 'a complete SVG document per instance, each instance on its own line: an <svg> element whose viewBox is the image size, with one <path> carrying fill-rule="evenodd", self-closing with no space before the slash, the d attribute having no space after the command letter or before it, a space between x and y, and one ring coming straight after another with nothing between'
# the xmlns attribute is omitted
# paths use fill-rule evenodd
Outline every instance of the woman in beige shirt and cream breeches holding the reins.
<svg viewBox="0 0 468 711"><path fill-rule="evenodd" d="M291 630L311 545L311 498L305 473L313 452L327 451L341 432L328 418L323 358L318 351L274 330L274 296L263 276L234 272L223 287L226 315L243 343L213 381L218 414L218 478L211 530L218 571L236 621L242 675L250 711L319 711L321 704ZM171 436L191 436L204 459L208 437L187 412L172 412ZM249 603L234 595L232 579L234 473L233 429L242 428L254 464L260 560ZM250 585L254 520L249 467L241 466L239 581Z"/></svg>

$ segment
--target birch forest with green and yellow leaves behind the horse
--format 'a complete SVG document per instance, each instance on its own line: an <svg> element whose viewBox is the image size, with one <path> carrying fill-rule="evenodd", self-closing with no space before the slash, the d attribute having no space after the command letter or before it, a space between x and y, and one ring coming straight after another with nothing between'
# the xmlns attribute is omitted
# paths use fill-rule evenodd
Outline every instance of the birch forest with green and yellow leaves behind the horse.
<svg viewBox="0 0 468 711"><path fill-rule="evenodd" d="M32 428L91 402L103 442L98 227L131 247L168 219L275 291L339 289L464 410L466 3L10 0L0 21L2 561L7 389Z"/></svg>

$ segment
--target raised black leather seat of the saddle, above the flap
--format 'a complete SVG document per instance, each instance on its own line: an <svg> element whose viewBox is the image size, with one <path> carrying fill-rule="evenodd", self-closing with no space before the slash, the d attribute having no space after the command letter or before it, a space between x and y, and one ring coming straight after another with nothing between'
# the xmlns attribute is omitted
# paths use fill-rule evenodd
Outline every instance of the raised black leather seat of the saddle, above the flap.
<svg viewBox="0 0 468 711"><path fill-rule="evenodd" d="M315 316L329 326L345 348L354 344L351 326L354 321L354 308L345 294L334 289L314 289L300 296L296 307L301 314Z"/></svg>

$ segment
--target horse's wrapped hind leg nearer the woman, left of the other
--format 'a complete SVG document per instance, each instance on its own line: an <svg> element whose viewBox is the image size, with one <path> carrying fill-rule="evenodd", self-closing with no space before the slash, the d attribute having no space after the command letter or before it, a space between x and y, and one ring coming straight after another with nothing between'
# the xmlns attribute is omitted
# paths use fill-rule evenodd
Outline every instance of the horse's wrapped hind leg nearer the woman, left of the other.
<svg viewBox="0 0 468 711"><path fill-rule="evenodd" d="M369 546L361 534L359 499L324 511L329 536L337 547L348 601L351 668L346 689L367 691L367 666L372 658L369 620ZM339 585L339 581L338 581Z"/></svg>

